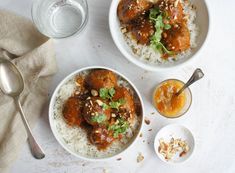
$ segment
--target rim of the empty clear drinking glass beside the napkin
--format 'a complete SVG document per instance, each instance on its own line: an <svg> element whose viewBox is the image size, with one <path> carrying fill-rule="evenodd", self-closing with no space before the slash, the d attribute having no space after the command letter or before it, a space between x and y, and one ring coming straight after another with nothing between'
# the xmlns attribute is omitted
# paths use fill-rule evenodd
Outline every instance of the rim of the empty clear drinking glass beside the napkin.
<svg viewBox="0 0 235 173"><path fill-rule="evenodd" d="M39 31L40 33L42 33L43 35L45 35L45 36L47 36L47 37L49 37L49 38L53 38L53 39L65 39L65 38L73 37L73 36L76 36L76 35L80 34L80 33L84 30L84 28L87 26L88 18L89 18L89 8L88 8L87 0L83 0L83 1L85 2L85 8L84 8L84 11L85 11L85 20L83 21L83 23L81 24L81 26L79 26L79 28L78 28L75 32L73 32L73 33L71 33L71 34L69 34L69 35L67 35L67 36L62 36L62 37L51 36L50 34L48 34L48 33L46 33L46 32L43 32L43 30L41 29L41 27L39 27L39 26L37 25L37 23L35 22L37 19L36 19L35 16L34 16L35 4L36 4L38 1L40 1L40 0L35 0L35 1L32 3L32 5L31 5L31 18L32 18L32 21L33 21L34 26L35 26L35 27L38 29L38 31ZM43 0L41 0L41 1L43 1Z"/></svg>

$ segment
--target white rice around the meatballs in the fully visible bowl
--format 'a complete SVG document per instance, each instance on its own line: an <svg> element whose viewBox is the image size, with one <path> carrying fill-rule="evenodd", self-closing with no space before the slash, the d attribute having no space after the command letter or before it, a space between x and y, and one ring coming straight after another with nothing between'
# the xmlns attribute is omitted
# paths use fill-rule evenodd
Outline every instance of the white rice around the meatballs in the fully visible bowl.
<svg viewBox="0 0 235 173"><path fill-rule="evenodd" d="M78 75L78 74L77 74ZM83 75L86 75L83 73ZM118 80L119 85L127 86L130 91L133 88L122 78ZM105 158L114 156L123 151L136 138L139 129L142 115L135 116L136 119L131 127L128 129L126 135L121 141L113 142L106 150L99 151L96 146L92 145L88 138L87 132L80 127L68 126L64 121L62 109L65 101L74 93L76 89L75 76L67 81L57 93L54 107L53 107L53 129L59 134L59 140L66 148L77 155L87 158ZM135 95L134 95L135 96ZM138 99L137 97L134 97Z"/></svg>

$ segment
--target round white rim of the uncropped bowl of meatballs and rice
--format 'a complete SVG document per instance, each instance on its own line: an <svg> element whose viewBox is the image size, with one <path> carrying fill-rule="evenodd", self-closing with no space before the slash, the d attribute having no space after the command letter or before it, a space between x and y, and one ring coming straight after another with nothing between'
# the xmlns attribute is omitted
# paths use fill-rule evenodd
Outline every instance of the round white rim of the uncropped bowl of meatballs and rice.
<svg viewBox="0 0 235 173"><path fill-rule="evenodd" d="M104 158L89 158L89 157L85 157L85 156L82 156L82 155L79 155L77 153L75 153L74 151L71 151L69 150L65 144L63 144L60 139L59 139L59 135L58 135L58 132L52 127L52 116L53 116L53 106L54 106L54 103L55 103L55 98L56 98L56 95L58 94L58 91L59 89L61 88L62 85L64 85L64 83L70 79L72 76L76 75L77 73L80 73L82 71L86 71L86 70L92 70L92 69L106 69L106 70L111 70L112 72L114 72L116 75L119 75L121 76L123 79L125 79L130 85L131 87L133 87L135 93L137 94L139 100L140 100L140 103L141 103L141 107L142 107L142 119L141 119L141 122L140 122L140 127L139 127L139 131L138 133L136 134L135 138L133 139L133 141L126 147L124 148L123 150L121 150L119 153L117 154L114 154L113 156L110 156L110 157L104 157ZM56 138L57 142L70 154L74 155L75 157L77 158L80 158L80 159L83 159L83 160L87 160L87 161L105 161L105 160L110 160L110 159L113 159L115 157L118 157L119 155L123 154L124 152L126 152L129 148L131 148L135 142L137 141L138 139L138 136L139 134L141 133L141 130L143 128L143 122L144 122L144 103L143 103L143 99L140 95L140 92L138 91L138 89L136 88L136 86L125 76L123 75L122 73L112 69L112 68L109 68L109 67L105 67L105 66L88 66L88 67L83 67L83 68L80 68L78 70L75 70L74 72L70 73L69 75L67 75L62 81L59 82L59 84L57 85L56 89L54 90L52 96L51 96L51 100L50 100L50 104L49 104L49 124L50 124L50 128L52 130L52 133L54 135L54 137Z"/></svg>

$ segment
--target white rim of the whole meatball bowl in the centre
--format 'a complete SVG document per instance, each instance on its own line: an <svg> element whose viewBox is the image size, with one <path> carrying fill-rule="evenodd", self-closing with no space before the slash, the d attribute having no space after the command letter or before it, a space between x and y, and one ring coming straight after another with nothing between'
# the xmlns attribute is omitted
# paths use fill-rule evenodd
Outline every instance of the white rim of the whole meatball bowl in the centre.
<svg viewBox="0 0 235 173"><path fill-rule="evenodd" d="M116 75L120 76L122 79L124 79L125 81L127 81L130 86L133 88L136 96L138 97L140 104L141 104L141 109L142 109L142 113L141 113L141 120L140 120L140 125L138 128L138 132L135 134L135 136L132 137L131 141L128 143L128 145L119 153L116 153L110 157L102 157L102 158L92 158L92 157L86 157L86 156L82 156L79 153L73 151L72 149L70 149L68 147L68 145L61 139L60 134L58 133L57 129L56 129L56 123L55 120L53 119L53 107L55 105L55 101L56 101L56 97L58 95L58 92L60 90L60 88L70 79L72 79L74 76L76 76L77 74L81 73L81 72L85 72L88 70L93 70L93 69L106 69L106 70L110 70L113 71ZM136 141L137 137L139 136L139 133L141 131L142 125L143 125L143 116L144 116L144 104L143 104L143 100L141 98L141 95L139 93L139 91L137 90L137 88L135 87L135 85L129 80L127 79L123 74L111 69L111 68L107 68L107 67L102 67L102 66L90 66L90 67L85 67L85 68L81 68L73 73L71 73L70 75L68 75L67 77L65 77L60 84L57 86L57 88L55 89L51 101L50 101L50 106L49 106L49 122L50 122L50 126L51 126L51 130L56 138L56 140L59 142L59 144L65 149L67 150L69 153L71 153L72 155L84 159L84 160L88 160L88 161L97 161L97 160L106 160L106 159L110 159L113 157L117 157L118 155L120 155L121 153L123 153L124 151L126 151L129 147L131 147L134 142Z"/></svg>

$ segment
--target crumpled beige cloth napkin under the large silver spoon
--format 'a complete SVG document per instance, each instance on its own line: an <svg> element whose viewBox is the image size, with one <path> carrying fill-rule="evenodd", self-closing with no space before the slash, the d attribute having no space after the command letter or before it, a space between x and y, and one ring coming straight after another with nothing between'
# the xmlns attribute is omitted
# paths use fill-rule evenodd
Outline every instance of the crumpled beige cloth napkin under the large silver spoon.
<svg viewBox="0 0 235 173"><path fill-rule="evenodd" d="M48 89L57 69L52 40L40 34L30 20L0 10L0 57L10 59L24 77L20 101L33 127L48 103ZM13 99L0 91L0 173L7 172L26 140Z"/></svg>

